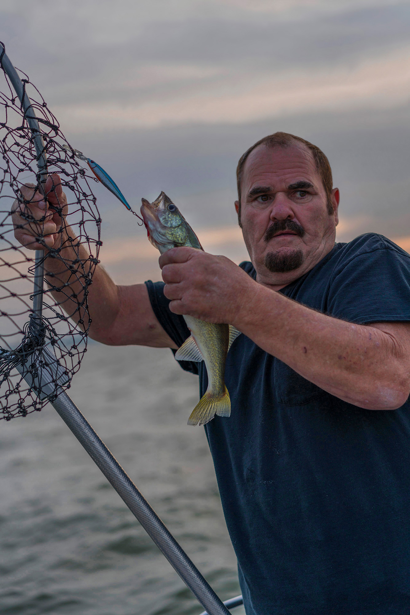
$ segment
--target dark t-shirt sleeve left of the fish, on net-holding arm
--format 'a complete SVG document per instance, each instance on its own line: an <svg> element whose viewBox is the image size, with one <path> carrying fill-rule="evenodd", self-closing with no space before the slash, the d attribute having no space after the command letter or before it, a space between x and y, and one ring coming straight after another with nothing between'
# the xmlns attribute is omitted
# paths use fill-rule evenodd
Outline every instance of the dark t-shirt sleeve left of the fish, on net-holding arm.
<svg viewBox="0 0 410 615"><path fill-rule="evenodd" d="M184 317L179 314L173 314L170 311L170 300L164 295L164 282L145 282L148 290L149 301L151 301L152 310L156 315L161 327L168 333L173 342L179 347L184 341L189 338L191 331L186 325ZM175 350L171 349L173 354ZM191 371L193 374L198 373L198 366L191 361L178 361L179 365L185 371Z"/></svg>

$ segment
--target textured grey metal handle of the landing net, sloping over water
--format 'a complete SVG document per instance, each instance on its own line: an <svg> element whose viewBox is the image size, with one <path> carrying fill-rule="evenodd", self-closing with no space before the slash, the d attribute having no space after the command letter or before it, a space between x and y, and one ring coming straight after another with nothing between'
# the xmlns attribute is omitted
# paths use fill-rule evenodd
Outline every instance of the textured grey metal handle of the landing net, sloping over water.
<svg viewBox="0 0 410 615"><path fill-rule="evenodd" d="M51 403L207 613L229 614L224 603L219 600L68 395L61 392Z"/></svg>

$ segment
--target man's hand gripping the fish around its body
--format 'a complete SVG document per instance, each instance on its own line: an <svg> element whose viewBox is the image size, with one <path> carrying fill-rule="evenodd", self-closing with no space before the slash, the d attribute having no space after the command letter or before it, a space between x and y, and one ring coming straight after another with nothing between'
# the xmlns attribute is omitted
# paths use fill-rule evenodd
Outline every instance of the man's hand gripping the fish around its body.
<svg viewBox="0 0 410 615"><path fill-rule="evenodd" d="M239 322L259 287L229 258L194 248L171 248L160 256L159 266L171 312L207 322Z"/></svg>

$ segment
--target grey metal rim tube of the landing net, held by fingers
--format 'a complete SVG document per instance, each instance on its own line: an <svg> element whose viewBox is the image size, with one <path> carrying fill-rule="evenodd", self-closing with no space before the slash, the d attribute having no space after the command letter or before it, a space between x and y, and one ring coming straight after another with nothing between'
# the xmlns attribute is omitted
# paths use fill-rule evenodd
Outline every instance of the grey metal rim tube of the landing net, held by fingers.
<svg viewBox="0 0 410 615"><path fill-rule="evenodd" d="M44 184L47 181L47 177L49 177L47 169L47 154L45 153L44 140L40 132L39 123L37 122L36 113L26 92L25 84L22 82L16 69L10 62L9 57L6 54L6 47L4 47L4 43L1 41L0 46L2 47L2 50L0 47L0 64L4 69L4 72L7 74L7 77L9 77L15 92L17 93L18 100L20 100L25 118L31 130L31 135L33 137L33 143L37 154L37 178L39 180L39 189L43 196L45 196ZM44 250L36 250L36 261L34 264L33 314L37 320L41 320L43 292Z"/></svg>

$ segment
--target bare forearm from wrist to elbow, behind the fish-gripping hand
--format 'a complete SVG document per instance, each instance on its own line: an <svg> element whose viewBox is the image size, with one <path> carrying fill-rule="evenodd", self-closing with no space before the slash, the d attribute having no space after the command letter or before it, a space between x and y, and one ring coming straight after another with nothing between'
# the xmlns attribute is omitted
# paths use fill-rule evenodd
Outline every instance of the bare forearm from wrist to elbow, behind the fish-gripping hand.
<svg viewBox="0 0 410 615"><path fill-rule="evenodd" d="M391 410L407 399L408 357L388 333L334 319L256 283L242 296L235 327L307 380L369 410Z"/></svg>

